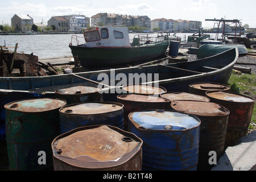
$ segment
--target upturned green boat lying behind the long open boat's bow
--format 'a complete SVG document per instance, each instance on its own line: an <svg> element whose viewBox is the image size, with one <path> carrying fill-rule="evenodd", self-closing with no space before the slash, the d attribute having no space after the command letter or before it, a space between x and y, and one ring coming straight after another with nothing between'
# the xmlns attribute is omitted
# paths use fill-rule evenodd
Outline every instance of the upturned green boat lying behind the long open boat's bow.
<svg viewBox="0 0 256 182"><path fill-rule="evenodd" d="M236 47L238 48L239 55L245 55L248 53L245 45L243 44L203 44L198 48L197 59L213 56Z"/></svg>

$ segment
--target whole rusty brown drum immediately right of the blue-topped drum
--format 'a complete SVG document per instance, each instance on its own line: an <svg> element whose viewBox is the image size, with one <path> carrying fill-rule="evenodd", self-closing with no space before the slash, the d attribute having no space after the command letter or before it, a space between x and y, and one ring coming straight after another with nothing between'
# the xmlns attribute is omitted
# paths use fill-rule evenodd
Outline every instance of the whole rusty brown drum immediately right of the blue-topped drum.
<svg viewBox="0 0 256 182"><path fill-rule="evenodd" d="M217 160L224 152L229 110L213 102L172 101L172 109L193 114L200 119L198 170L210 170L209 152L216 152Z"/></svg>

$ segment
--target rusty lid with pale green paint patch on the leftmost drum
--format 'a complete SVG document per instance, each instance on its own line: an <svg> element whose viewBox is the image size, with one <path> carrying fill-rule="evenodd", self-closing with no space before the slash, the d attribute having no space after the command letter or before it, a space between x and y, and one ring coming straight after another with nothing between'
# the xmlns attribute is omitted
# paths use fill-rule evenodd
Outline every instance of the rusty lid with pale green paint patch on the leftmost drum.
<svg viewBox="0 0 256 182"><path fill-rule="evenodd" d="M55 99L55 98L35 98L28 100L14 101L5 105L6 109L21 112L43 112L54 110L64 106L66 104L65 100Z"/></svg>

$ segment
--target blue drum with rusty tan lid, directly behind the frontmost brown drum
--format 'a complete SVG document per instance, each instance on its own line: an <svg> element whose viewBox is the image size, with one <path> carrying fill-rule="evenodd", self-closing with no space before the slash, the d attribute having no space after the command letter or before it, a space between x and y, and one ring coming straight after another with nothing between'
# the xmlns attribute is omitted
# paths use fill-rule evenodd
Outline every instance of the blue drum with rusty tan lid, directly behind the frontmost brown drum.
<svg viewBox="0 0 256 182"><path fill-rule="evenodd" d="M123 105L118 102L85 102L60 108L60 133L77 127L111 125L123 129Z"/></svg>

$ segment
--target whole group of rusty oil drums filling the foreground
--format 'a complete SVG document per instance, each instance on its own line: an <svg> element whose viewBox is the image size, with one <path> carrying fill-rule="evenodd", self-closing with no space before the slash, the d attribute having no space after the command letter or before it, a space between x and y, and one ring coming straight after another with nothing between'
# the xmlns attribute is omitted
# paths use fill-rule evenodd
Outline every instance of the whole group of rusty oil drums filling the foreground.
<svg viewBox="0 0 256 182"><path fill-rule="evenodd" d="M209 170L209 152L218 159L246 134L254 105L209 82L189 85L189 93L159 87L160 97L121 94L116 102L96 89L6 104L10 169Z"/></svg>

